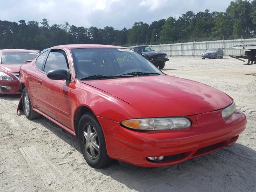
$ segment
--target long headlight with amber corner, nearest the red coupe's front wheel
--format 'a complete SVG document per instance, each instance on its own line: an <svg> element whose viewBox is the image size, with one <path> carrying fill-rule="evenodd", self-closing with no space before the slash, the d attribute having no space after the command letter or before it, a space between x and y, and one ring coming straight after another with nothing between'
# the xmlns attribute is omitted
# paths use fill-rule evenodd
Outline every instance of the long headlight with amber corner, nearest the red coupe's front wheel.
<svg viewBox="0 0 256 192"><path fill-rule="evenodd" d="M129 119L122 121L121 124L136 130L183 129L191 126L190 120L186 117Z"/></svg>

